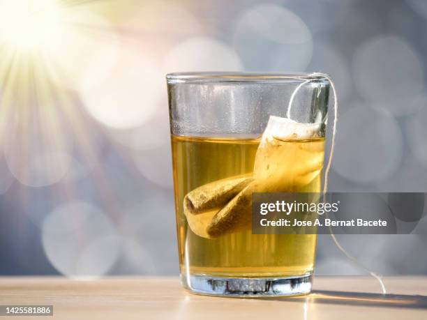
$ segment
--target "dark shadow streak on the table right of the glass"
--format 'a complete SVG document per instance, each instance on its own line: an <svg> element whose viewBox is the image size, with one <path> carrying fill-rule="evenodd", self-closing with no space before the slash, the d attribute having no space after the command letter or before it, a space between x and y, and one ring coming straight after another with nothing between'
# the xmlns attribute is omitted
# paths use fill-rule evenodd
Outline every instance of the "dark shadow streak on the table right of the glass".
<svg viewBox="0 0 427 320"><path fill-rule="evenodd" d="M361 305L364 307L398 307L427 309L427 296L402 294L366 294L362 292L314 290L308 296L280 299L334 305Z"/></svg>

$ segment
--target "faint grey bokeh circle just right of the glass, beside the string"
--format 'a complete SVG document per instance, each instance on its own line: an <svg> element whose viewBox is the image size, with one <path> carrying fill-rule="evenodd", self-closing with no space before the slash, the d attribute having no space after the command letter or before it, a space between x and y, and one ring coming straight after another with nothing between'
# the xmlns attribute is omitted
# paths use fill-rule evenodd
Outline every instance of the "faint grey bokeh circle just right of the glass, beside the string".
<svg viewBox="0 0 427 320"><path fill-rule="evenodd" d="M340 116L333 167L356 183L393 174L402 157L402 132L389 112L356 105Z"/></svg>

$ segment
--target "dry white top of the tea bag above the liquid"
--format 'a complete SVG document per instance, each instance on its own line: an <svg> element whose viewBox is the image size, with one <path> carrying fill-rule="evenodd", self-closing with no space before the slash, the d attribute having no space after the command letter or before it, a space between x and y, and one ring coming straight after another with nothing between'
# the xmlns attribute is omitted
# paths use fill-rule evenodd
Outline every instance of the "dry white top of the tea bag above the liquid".
<svg viewBox="0 0 427 320"><path fill-rule="evenodd" d="M301 123L289 118L270 116L262 134L261 146L276 139L310 139L317 137L321 123Z"/></svg>

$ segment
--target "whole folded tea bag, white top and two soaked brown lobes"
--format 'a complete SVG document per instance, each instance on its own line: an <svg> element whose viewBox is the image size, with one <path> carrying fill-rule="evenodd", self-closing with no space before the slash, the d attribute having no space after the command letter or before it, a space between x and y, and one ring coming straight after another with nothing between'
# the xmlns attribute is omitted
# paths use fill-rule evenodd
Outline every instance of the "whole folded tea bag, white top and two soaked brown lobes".
<svg viewBox="0 0 427 320"><path fill-rule="evenodd" d="M249 229L252 192L303 189L322 170L324 141L317 139L319 130L320 124L270 116L253 176L214 181L186 195L183 206L190 229L204 238Z"/></svg>

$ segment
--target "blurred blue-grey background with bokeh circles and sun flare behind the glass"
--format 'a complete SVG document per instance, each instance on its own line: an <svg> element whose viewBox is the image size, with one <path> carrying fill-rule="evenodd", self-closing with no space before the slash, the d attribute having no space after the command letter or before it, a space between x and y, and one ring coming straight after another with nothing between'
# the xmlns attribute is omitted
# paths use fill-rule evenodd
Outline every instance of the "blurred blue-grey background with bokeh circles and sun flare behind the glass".
<svg viewBox="0 0 427 320"><path fill-rule="evenodd" d="M330 189L426 192L426 33L424 0L0 0L0 274L178 274L175 71L329 73ZM426 274L417 228L338 238L374 271ZM316 272L362 273L327 235Z"/></svg>

